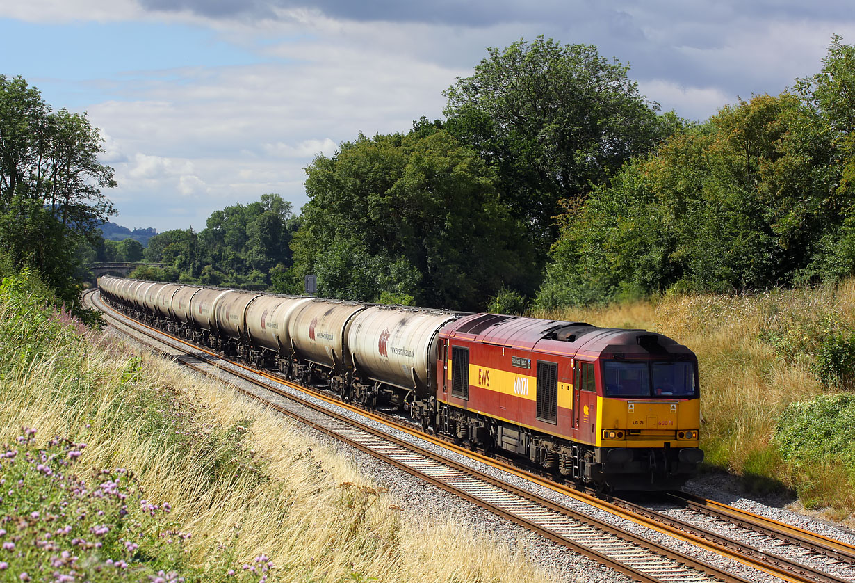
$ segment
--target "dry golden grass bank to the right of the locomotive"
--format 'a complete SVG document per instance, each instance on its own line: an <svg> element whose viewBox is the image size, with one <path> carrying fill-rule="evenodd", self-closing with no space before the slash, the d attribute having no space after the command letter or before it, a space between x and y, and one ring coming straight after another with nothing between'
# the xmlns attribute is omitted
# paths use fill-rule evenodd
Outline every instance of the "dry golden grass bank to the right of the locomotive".
<svg viewBox="0 0 855 583"><path fill-rule="evenodd" d="M817 429L803 432L799 448L808 455L781 449L776 437L794 422L784 414L794 403L812 411L824 396L852 390L855 279L834 288L666 295L533 315L646 328L692 348L700 366L707 467L740 475L756 491L790 488L808 507L827 508L837 519L855 512L855 444L848 453L808 447L840 419L829 414L806 425Z"/></svg>

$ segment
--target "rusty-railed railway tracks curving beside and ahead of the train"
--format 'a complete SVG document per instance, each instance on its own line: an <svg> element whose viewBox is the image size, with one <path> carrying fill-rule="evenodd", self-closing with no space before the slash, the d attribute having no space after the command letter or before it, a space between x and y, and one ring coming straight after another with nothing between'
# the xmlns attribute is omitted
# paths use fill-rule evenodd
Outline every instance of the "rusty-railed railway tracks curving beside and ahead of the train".
<svg viewBox="0 0 855 583"><path fill-rule="evenodd" d="M281 413L301 419L357 449L426 479L445 491L450 491L516 524L538 532L545 538L589 556L635 580L756 580L734 574L733 568L716 567L711 562L699 560L648 537L641 537L634 532L629 532L621 526L616 526L612 521L593 518L587 513L583 514L562 503L557 503L554 499L509 485L505 481L495 479L488 473L476 470L469 465L451 461L445 456L423 449L416 443L412 443L413 440L410 437L394 435L395 432L400 431L404 431L405 434L414 434L415 432L411 428L401 425L398 421L387 419L388 416L352 408L347 403L333 400L333 398L317 391L311 391L312 396L307 398L304 387L289 383L278 375L256 371L245 365L223 360L220 355L207 349L199 348L179 338L166 336L160 330L152 329L145 324L127 318L124 314L115 312L109 306L104 305L96 297L96 293L88 294L87 300L91 301L97 309L105 312L108 318L113 321L113 325L126 332L127 330L136 330L133 332L136 335L144 334L147 338L144 343L159 352L168 354L175 360L179 360L186 366L191 366L199 372L218 378L223 378L225 375L251 383L257 389L239 387L239 390L251 398L266 402ZM186 355L188 352L192 355ZM285 397L285 399L271 402L269 391L273 391L274 394ZM318 399L324 402L324 405L319 405ZM348 410L351 414L344 414L340 411L341 409ZM378 431L368 426L359 425L352 419L354 413L375 421L379 419L386 425L394 424L396 425L395 431ZM652 531L666 534L671 538L716 553L716 555L727 559L722 561L725 563L728 561L740 562L750 568L771 574L779 580L794 582L840 582L847 580L840 579L817 568L793 562L782 556L775 556L734 539L722 537L699 526L677 521L637 504L623 500L616 500L613 503L605 502L575 491L568 486L557 485L517 468L507 467L467 449L442 442L435 437L424 434L419 434L417 437L433 443L441 443L443 447L455 450L457 454L467 455L489 466L500 467L503 471L530 479L534 484L573 497L575 500L589 504L594 509L602 509L610 515L619 516L626 521L646 526ZM735 516L740 515L738 509L712 501L700 499L690 502L687 498L683 498L683 500L683 503L687 505L695 504L695 508L707 515L715 514L716 520L736 521ZM781 523L772 524L774 521L754 516L753 524L756 526L748 526L751 523L746 520L744 523L740 523L740 527L752 528L753 532L758 532L763 536L786 540L787 544L797 544L813 553L822 553L823 556L834 557L834 560L842 563L855 564L855 549L849 545L794 527L787 529L785 526L781 526ZM763 521L759 519L763 519Z"/></svg>

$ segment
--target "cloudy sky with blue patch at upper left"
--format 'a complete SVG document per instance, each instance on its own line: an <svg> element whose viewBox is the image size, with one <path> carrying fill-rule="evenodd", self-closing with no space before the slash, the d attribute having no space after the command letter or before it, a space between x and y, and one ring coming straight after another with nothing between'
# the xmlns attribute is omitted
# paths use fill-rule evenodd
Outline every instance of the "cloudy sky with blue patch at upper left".
<svg viewBox="0 0 855 583"><path fill-rule="evenodd" d="M212 211L279 193L362 133L442 119L443 92L539 35L597 45L662 110L703 121L822 67L855 43L843 0L0 1L0 74L103 137L106 195L128 228L201 230Z"/></svg>

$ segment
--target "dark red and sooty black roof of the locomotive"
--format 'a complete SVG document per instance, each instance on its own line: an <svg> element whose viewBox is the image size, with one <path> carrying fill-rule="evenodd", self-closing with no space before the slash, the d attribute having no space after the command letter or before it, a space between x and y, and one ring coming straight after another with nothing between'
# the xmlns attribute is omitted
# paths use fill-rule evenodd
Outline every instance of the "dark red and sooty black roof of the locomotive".
<svg viewBox="0 0 855 583"><path fill-rule="evenodd" d="M574 357L645 357L656 354L692 355L668 336L647 330L599 328L585 322L523 318L503 314L472 314L446 324L449 338L505 348L535 350Z"/></svg>

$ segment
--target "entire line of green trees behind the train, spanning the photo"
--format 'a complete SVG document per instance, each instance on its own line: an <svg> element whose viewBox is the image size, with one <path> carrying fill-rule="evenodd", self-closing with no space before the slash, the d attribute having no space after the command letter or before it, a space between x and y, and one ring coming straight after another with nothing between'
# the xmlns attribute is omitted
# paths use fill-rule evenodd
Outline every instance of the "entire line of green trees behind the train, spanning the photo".
<svg viewBox="0 0 855 583"><path fill-rule="evenodd" d="M539 37L489 49L445 91L444 120L315 158L298 217L264 194L144 249L93 235L112 211L97 130L0 79L5 107L38 114L3 114L3 144L32 119L44 123L23 134L53 140L0 152L0 243L52 282L74 273L51 262L144 260L166 266L137 277L302 293L315 274L329 297L519 312L855 272L855 47L839 37L817 74L705 122L661 112L596 47ZM85 154L73 176L63 152ZM43 232L59 238L35 244Z"/></svg>

